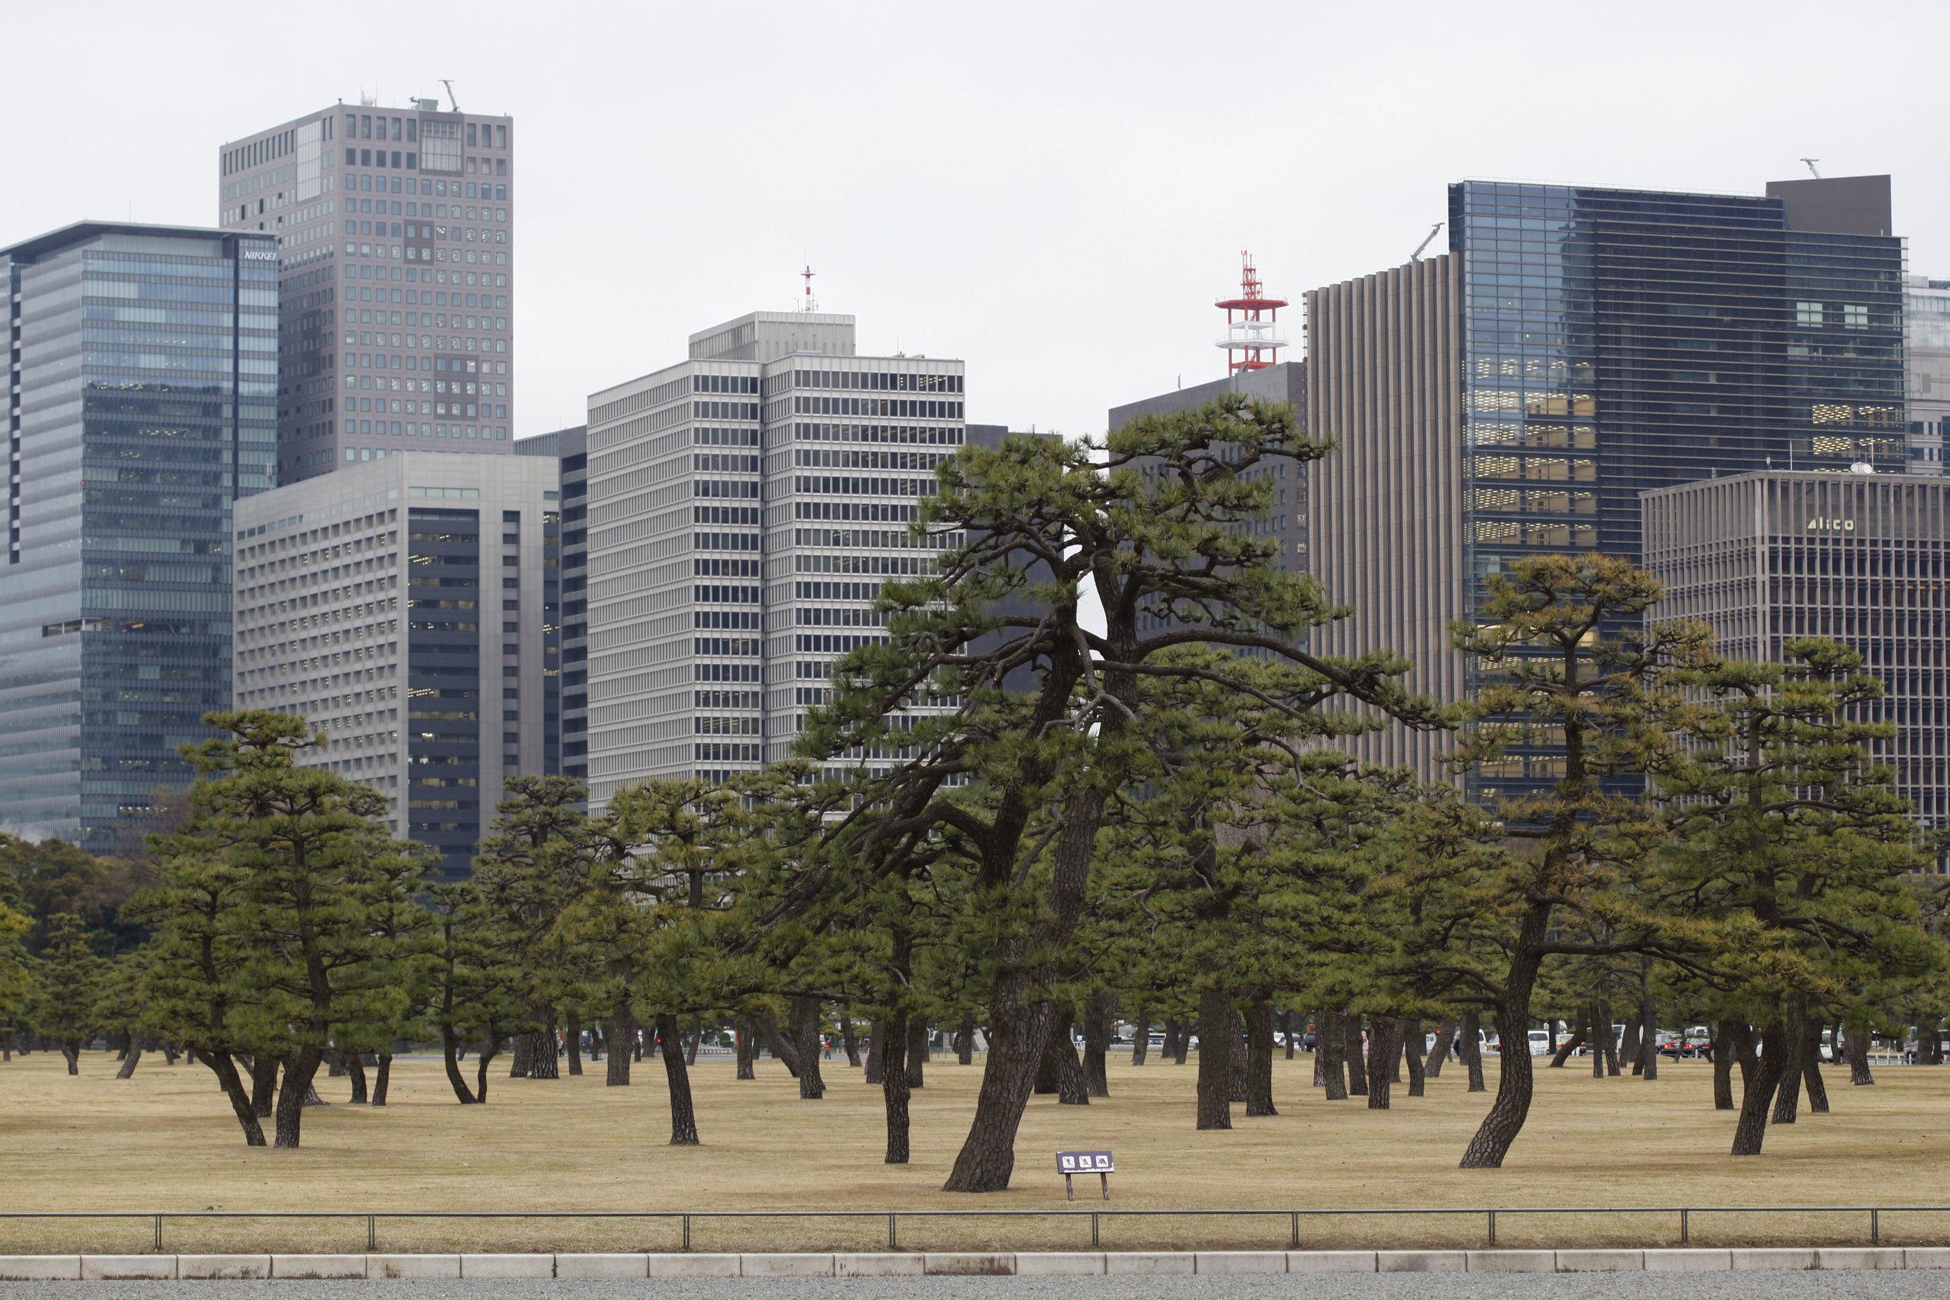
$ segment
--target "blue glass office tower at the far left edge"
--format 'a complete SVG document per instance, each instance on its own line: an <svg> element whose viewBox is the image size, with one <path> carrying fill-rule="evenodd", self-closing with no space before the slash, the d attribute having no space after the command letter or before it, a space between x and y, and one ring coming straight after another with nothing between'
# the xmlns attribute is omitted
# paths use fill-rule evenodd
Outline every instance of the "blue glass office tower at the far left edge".
<svg viewBox="0 0 1950 1300"><path fill-rule="evenodd" d="M230 707L230 505L277 472L277 242L80 222L0 267L0 828L113 852Z"/></svg>

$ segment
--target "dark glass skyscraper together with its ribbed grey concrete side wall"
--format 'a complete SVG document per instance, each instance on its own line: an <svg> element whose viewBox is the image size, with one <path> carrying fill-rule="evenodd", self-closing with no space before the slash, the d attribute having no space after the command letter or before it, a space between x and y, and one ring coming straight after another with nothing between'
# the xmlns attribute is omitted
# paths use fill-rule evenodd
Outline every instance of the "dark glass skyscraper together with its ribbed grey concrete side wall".
<svg viewBox="0 0 1950 1300"><path fill-rule="evenodd" d="M1689 195L1462 181L1451 246L1306 296L1314 571L1355 616L1328 651L1396 649L1466 694L1447 645L1484 579L1535 554L1642 559L1638 495L1751 470L1905 464L1903 246L1888 177ZM1375 760L1435 776L1394 731ZM1548 782L1550 746L1486 787Z"/></svg>

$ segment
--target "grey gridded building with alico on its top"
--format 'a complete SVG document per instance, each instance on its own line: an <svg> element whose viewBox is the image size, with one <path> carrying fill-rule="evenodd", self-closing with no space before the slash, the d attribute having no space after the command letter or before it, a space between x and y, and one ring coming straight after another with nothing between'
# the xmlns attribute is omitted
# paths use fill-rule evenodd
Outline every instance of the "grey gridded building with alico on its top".
<svg viewBox="0 0 1950 1300"><path fill-rule="evenodd" d="M1897 791L1950 824L1950 481L1769 470L1648 491L1644 511L1656 618L1712 624L1736 659L1778 661L1790 637L1860 651Z"/></svg>

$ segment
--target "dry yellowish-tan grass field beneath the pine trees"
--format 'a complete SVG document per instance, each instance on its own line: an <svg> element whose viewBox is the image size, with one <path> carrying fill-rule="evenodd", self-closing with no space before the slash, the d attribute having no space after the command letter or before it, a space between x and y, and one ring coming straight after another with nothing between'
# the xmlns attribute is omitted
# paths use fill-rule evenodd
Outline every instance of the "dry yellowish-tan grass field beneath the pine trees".
<svg viewBox="0 0 1950 1300"><path fill-rule="evenodd" d="M497 1062L499 1064L499 1062ZM1496 1062L1490 1058L1494 1088ZM581 1078L530 1082L495 1070L489 1105L454 1103L437 1060L396 1062L392 1105L345 1103L347 1082L320 1078L330 1109L304 1119L296 1152L250 1150L203 1066L150 1054L133 1080L113 1058L82 1056L68 1078L55 1052L0 1066L4 1210L1051 1210L1065 1208L1057 1150L1112 1148L1113 1201L1076 1208L1355 1208L1622 1204L1934 1204L1950 1203L1950 1070L1884 1068L1874 1088L1829 1070L1835 1111L1774 1127L1767 1154L1734 1160L1732 1113L1712 1109L1710 1066L1665 1064L1658 1082L1593 1080L1589 1066L1539 1070L1529 1127L1503 1169L1457 1169L1488 1107L1455 1064L1427 1097L1396 1088L1394 1109L1328 1103L1303 1056L1275 1060L1277 1117L1230 1132L1193 1130L1195 1066L1133 1068L1113 1056L1112 1095L1090 1107L1034 1097L1018 1136L1014 1187L952 1197L940 1185L973 1109L979 1066L928 1066L915 1093L915 1158L881 1164L879 1090L844 1060L825 1064L827 1095L800 1101L776 1062L735 1082L727 1060L694 1070L704 1146L671 1148L657 1062L632 1088ZM470 1070L472 1074L472 1070ZM1096 1195L1094 1185L1088 1189ZM1693 1243L1866 1240L1866 1214L1693 1216ZM1287 1218L1104 1220L1106 1247L1275 1247ZM0 1220L0 1253L144 1249L148 1222ZM1950 1214L1884 1214L1888 1243L1950 1242ZM1675 1243L1677 1216L1503 1216L1500 1245ZM1480 1245L1482 1216L1303 1220L1303 1243ZM382 1220L382 1249L673 1249L677 1222ZM700 1220L696 1249L885 1249L885 1220ZM1078 1220L903 1220L903 1247L1076 1247ZM363 1249L365 1220L252 1226L181 1220L170 1249Z"/></svg>

